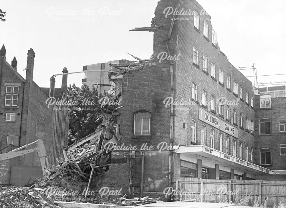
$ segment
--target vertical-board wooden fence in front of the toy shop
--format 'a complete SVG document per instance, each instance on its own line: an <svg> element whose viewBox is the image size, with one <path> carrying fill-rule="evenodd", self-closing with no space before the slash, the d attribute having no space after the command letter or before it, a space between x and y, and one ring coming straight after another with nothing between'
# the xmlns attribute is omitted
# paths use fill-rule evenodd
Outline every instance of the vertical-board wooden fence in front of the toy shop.
<svg viewBox="0 0 286 208"><path fill-rule="evenodd" d="M268 206L274 202L286 204L286 181L206 180L175 178L173 201L196 199L201 202L240 201L247 196L257 199L259 205L268 197Z"/></svg>

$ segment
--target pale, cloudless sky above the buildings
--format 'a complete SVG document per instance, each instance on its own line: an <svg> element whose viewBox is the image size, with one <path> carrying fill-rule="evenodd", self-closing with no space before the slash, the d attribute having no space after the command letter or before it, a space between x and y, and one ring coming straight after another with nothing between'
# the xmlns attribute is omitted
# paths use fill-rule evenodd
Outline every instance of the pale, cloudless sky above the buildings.
<svg viewBox="0 0 286 208"><path fill-rule="evenodd" d="M187 1L187 0L186 0ZM235 67L256 64L257 75L285 74L286 0L197 0L212 17L218 44ZM82 66L110 60L141 59L153 53L153 33L129 31L150 27L157 0L0 0L0 44L6 60L17 58L25 78L27 51L35 52L33 80L49 87L49 78L82 71ZM243 70L253 76L253 70ZM83 73L69 74L68 84L82 85ZM62 76L56 76L56 87ZM253 78L249 78L253 82ZM284 82L286 75L257 77Z"/></svg>

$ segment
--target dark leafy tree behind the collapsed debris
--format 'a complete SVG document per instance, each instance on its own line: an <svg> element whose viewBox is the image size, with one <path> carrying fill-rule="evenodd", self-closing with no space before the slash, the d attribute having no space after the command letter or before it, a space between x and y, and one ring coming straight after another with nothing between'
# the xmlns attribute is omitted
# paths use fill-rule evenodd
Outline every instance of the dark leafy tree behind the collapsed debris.
<svg viewBox="0 0 286 208"><path fill-rule="evenodd" d="M99 93L94 86L89 88L84 84L67 87L69 108L69 138L68 145L94 132L102 119L96 121L96 116L88 118L100 108L99 100L104 94ZM87 121L88 120L88 121Z"/></svg>

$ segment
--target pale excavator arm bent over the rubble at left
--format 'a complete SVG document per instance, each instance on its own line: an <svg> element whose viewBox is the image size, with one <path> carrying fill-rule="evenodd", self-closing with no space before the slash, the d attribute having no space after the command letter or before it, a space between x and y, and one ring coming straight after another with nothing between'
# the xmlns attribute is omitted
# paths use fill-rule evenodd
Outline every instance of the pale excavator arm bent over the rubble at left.
<svg viewBox="0 0 286 208"><path fill-rule="evenodd" d="M30 145L35 144L35 143L38 143L38 146L36 148L31 148L28 150L21 150L21 149L24 149L27 146L30 146ZM21 151L19 151L19 150L21 150ZM22 156L22 155L29 154L32 152L37 152L37 155L40 158L43 175L44 175L44 177L46 177L48 172L49 172L49 168L47 168L47 166L49 165L49 161L47 159L46 150L45 150L43 140L41 140L41 139L39 139L35 142L32 142L30 144L26 144L22 147L15 149L15 150L12 150L10 152L0 154L0 161L5 160L5 159L11 159L11 158L18 157L18 156Z"/></svg>

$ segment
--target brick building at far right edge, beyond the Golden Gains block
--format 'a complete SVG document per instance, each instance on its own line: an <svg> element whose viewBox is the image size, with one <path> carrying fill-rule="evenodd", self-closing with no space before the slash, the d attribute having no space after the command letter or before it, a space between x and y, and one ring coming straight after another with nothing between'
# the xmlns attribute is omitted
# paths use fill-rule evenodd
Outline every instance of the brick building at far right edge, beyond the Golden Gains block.
<svg viewBox="0 0 286 208"><path fill-rule="evenodd" d="M259 94L255 95L254 103L254 161L256 164L273 170L276 173L275 179L281 181L286 179L286 98L283 93L284 87L268 87L267 94L265 94L265 88L259 88ZM275 96L275 93L278 97ZM273 179L271 175L264 175L262 178Z"/></svg>

